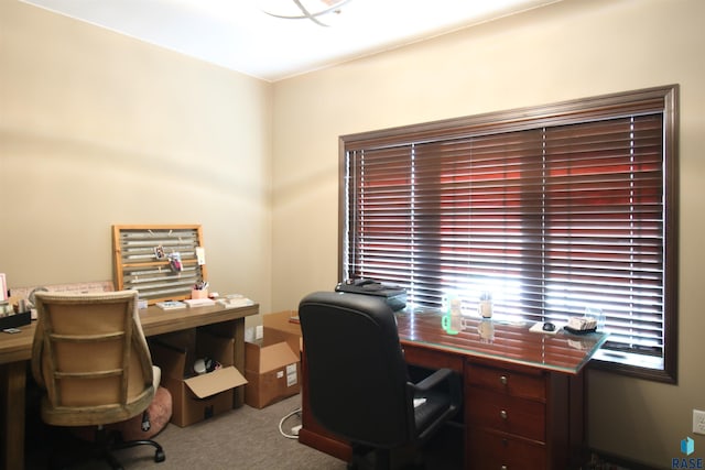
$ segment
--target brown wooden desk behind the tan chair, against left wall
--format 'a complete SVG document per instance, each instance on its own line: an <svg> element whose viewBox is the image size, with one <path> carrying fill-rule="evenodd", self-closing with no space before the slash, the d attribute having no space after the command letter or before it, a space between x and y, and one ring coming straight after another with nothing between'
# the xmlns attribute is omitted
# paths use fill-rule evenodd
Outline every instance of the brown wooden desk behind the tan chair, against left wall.
<svg viewBox="0 0 705 470"><path fill-rule="evenodd" d="M245 370L245 317L257 315L259 305L247 307L209 307L162 310L149 307L140 310L144 336L155 336L213 325L235 331L235 367ZM24 469L24 394L26 361L32 357L34 326L22 327L17 335L0 334L0 418L2 418L3 451L1 468ZM242 403L242 391L236 393L236 406Z"/></svg>

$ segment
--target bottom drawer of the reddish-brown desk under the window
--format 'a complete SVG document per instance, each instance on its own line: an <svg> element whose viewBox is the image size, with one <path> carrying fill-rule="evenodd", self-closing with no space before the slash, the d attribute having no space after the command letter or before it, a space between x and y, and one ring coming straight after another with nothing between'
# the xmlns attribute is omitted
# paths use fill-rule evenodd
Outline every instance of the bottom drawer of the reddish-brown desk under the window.
<svg viewBox="0 0 705 470"><path fill-rule="evenodd" d="M545 446L495 433L468 430L467 461L474 470L545 470Z"/></svg>

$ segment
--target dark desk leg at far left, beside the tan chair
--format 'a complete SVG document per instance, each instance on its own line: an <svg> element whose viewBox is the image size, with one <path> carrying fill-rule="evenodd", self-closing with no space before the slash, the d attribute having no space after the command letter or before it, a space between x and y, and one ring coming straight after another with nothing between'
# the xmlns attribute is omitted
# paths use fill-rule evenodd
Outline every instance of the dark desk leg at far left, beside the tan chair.
<svg viewBox="0 0 705 470"><path fill-rule="evenodd" d="M10 362L0 367L0 389L2 389L2 430L6 470L24 469L24 389L26 362Z"/></svg>

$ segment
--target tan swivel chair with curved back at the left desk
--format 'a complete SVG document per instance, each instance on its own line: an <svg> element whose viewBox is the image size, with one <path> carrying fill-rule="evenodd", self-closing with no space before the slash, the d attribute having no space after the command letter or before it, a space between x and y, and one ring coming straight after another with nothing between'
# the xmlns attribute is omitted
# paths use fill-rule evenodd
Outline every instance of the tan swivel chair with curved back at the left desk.
<svg viewBox="0 0 705 470"><path fill-rule="evenodd" d="M135 291L98 294L36 293L32 374L42 396L42 419L53 426L96 426L99 457L121 468L110 450L153 440L107 439L102 426L143 413L154 396L159 369L142 332Z"/></svg>

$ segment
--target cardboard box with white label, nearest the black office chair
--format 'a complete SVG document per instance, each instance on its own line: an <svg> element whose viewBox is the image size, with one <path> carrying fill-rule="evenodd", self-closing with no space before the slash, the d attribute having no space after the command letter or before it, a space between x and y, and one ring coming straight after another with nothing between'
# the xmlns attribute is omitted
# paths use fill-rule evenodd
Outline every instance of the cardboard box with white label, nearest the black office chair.
<svg viewBox="0 0 705 470"><path fill-rule="evenodd" d="M268 317L270 315L264 316L265 321ZM264 327L261 341L245 343L245 376L248 380L245 403L254 408L263 408L301 390L301 332L296 335L273 327L271 320L275 319L265 323L269 326Z"/></svg>

